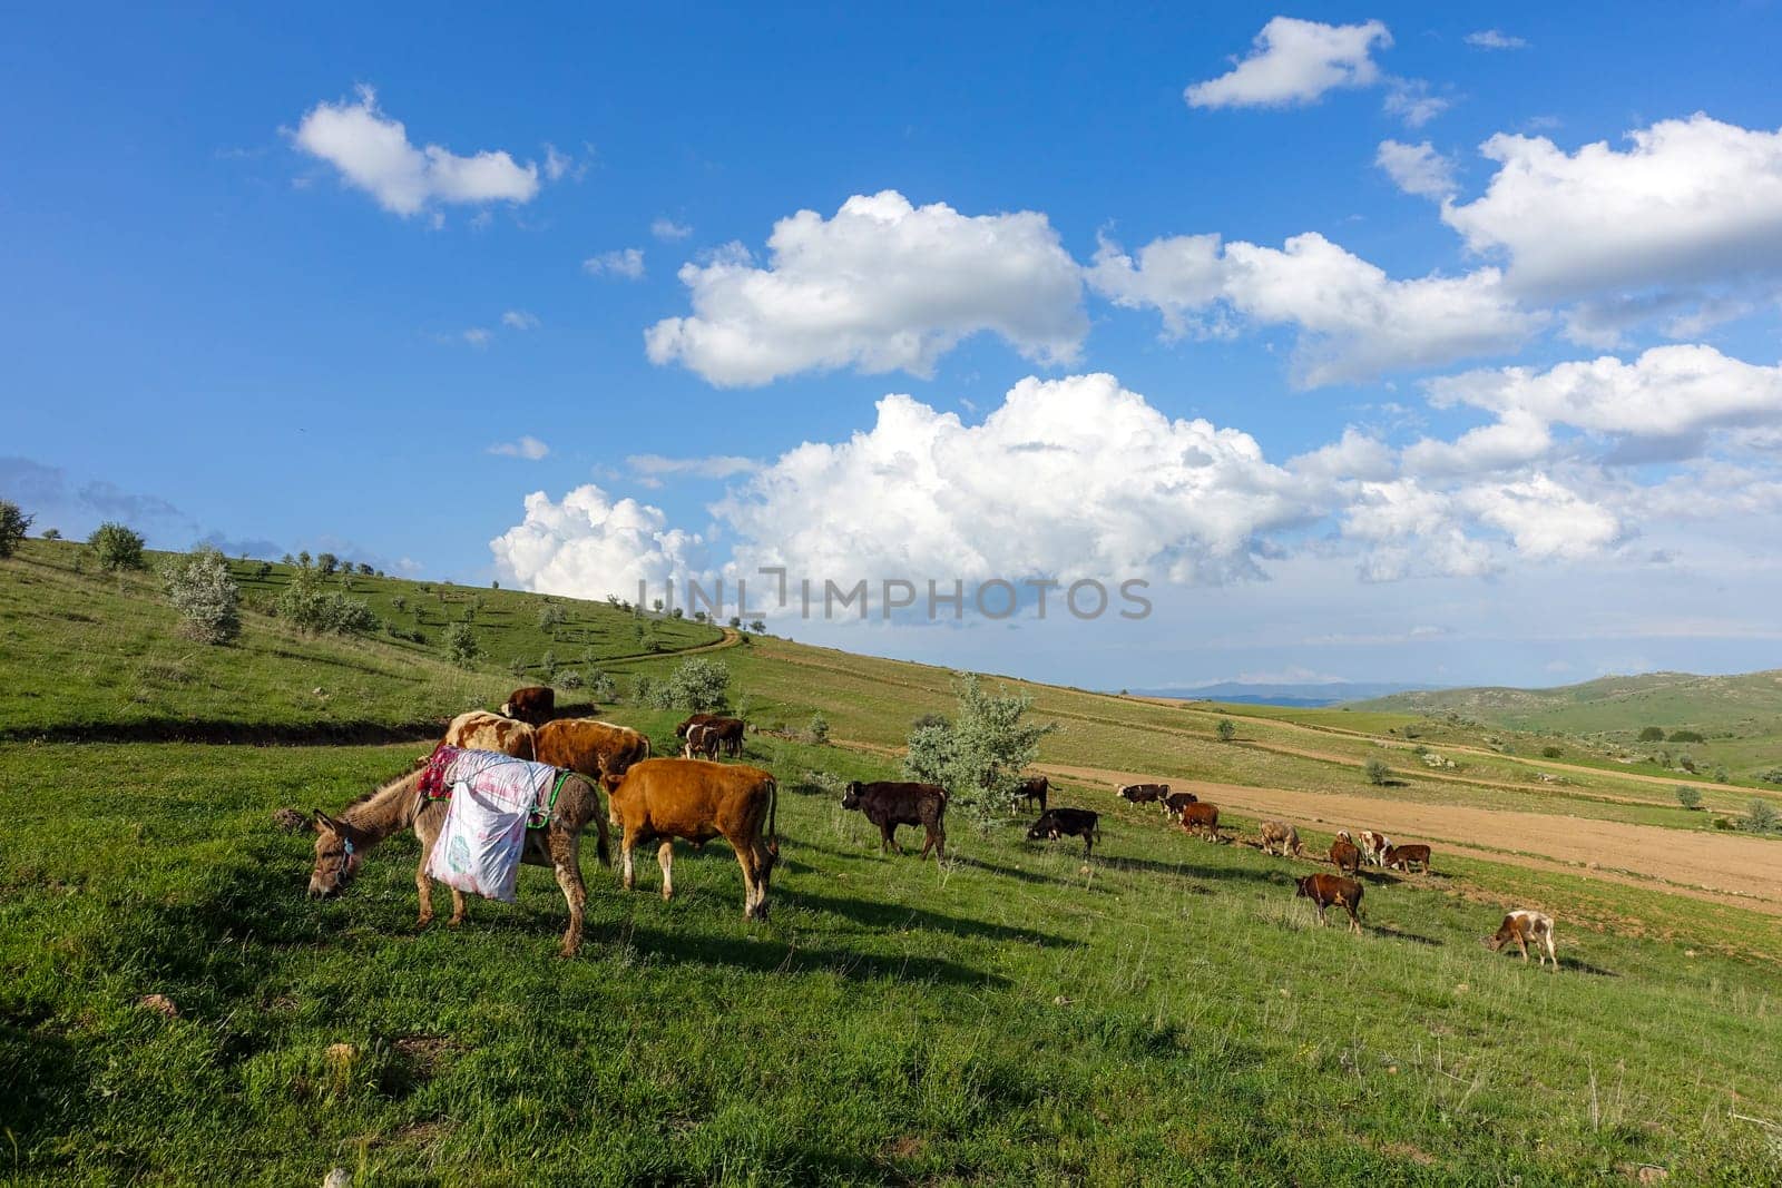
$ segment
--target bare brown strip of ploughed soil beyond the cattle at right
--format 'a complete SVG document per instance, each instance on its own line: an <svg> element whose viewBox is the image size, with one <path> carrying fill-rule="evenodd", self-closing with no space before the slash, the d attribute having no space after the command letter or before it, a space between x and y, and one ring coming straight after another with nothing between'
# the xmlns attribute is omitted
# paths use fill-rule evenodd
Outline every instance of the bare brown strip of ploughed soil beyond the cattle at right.
<svg viewBox="0 0 1782 1188"><path fill-rule="evenodd" d="M1062 764L1034 764L1034 769L1107 787L1151 778L1139 771ZM1663 891L1782 915L1782 844L1757 837L1244 784L1194 780L1192 787L1212 793L1224 807L1320 826L1326 832L1377 828L1395 837L1427 841L1438 853L1447 848L1492 862L1563 869L1602 882L1645 887L1659 883ZM1479 839L1490 839L1490 844L1479 844Z"/></svg>

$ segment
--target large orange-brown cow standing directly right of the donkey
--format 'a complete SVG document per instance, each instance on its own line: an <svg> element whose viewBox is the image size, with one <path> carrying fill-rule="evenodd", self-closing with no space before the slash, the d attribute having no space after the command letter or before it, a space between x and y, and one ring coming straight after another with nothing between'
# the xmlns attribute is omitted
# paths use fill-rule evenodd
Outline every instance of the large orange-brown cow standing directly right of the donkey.
<svg viewBox="0 0 1782 1188"><path fill-rule="evenodd" d="M625 891L636 885L631 851L638 842L661 841L656 860L663 867L663 899L672 899L674 839L700 846L723 837L743 867L743 919L768 917L768 883L779 860L779 785L772 773L702 759L645 759L601 784L622 830Z"/></svg>

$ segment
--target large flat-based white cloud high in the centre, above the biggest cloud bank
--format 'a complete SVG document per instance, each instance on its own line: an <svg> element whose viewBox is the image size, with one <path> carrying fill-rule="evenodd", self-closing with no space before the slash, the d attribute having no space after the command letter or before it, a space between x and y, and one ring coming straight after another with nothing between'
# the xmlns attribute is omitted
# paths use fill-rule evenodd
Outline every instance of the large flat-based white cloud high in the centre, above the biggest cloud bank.
<svg viewBox="0 0 1782 1188"><path fill-rule="evenodd" d="M649 356L723 387L839 367L928 376L982 331L1064 363L1087 333L1078 267L1046 216L964 216L896 191L781 219L766 267L732 244L681 281L693 312L656 322Z"/></svg>

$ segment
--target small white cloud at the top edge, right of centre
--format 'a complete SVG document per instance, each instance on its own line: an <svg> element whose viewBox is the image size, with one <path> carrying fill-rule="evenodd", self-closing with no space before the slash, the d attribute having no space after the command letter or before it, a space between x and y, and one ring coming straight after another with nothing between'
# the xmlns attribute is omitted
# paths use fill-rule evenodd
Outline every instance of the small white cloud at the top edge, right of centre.
<svg viewBox="0 0 1782 1188"><path fill-rule="evenodd" d="M1196 82L1183 98L1190 107L1312 103L1336 87L1377 82L1376 46L1392 46L1392 34L1379 21L1322 25L1276 16L1256 34L1249 57L1230 73Z"/></svg>

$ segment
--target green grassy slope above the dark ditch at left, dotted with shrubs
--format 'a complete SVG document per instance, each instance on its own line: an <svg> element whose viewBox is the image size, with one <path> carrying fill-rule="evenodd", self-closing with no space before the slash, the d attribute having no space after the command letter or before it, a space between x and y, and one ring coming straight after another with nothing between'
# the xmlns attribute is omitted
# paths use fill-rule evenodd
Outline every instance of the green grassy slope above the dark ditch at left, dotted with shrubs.
<svg viewBox="0 0 1782 1188"><path fill-rule="evenodd" d="M0 565L0 737L417 736L536 680L545 652L586 673L643 647L640 620L606 604L552 600L565 616L552 632L538 625L538 595L376 577L326 588L364 598L387 627L419 631L422 641L387 629L305 636L264 613L290 568L273 565L264 579L251 561L232 570L248 606L244 631L214 648L180 634L151 572L96 574L78 545L27 541ZM462 670L446 661L440 636L447 620L463 620L472 597L483 602L470 625L486 655ZM722 638L715 627L674 620L652 620L647 631L666 650ZM515 659L531 668L515 677Z"/></svg>

